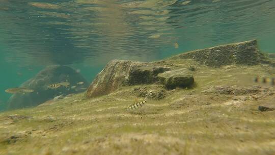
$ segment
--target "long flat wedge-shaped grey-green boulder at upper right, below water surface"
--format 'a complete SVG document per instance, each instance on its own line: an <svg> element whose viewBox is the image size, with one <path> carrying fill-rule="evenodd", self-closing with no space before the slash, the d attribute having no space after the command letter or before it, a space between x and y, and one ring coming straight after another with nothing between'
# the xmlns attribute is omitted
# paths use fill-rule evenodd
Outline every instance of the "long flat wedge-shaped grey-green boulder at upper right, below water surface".
<svg viewBox="0 0 275 155"><path fill-rule="evenodd" d="M257 65L269 63L266 56L257 48L257 41L245 41L211 48L189 51L170 59L194 59L201 64L219 67L224 65Z"/></svg>

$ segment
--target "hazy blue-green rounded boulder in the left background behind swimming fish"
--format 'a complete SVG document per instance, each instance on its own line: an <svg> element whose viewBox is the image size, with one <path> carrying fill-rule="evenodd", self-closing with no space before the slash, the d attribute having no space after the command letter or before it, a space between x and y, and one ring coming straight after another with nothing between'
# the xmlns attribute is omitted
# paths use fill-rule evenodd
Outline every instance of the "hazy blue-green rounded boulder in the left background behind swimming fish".
<svg viewBox="0 0 275 155"><path fill-rule="evenodd" d="M70 85L61 86L57 89L47 89L51 84L60 82L69 82ZM83 82L78 83L77 82ZM73 89L71 89L72 86ZM89 86L88 82L81 74L68 66L52 66L41 70L35 77L24 82L20 87L33 89L32 93L13 94L8 101L9 109L18 109L23 107L38 106L43 102L52 99L61 94L67 95L85 91Z"/></svg>

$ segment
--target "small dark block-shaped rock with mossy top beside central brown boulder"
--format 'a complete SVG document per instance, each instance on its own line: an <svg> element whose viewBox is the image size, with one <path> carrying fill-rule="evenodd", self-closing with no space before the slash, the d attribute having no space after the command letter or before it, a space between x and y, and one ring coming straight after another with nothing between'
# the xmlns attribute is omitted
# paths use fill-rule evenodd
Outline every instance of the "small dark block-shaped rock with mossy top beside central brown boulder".
<svg viewBox="0 0 275 155"><path fill-rule="evenodd" d="M194 77L186 68L175 69L158 74L159 80L167 89L176 87L190 87L194 83Z"/></svg>

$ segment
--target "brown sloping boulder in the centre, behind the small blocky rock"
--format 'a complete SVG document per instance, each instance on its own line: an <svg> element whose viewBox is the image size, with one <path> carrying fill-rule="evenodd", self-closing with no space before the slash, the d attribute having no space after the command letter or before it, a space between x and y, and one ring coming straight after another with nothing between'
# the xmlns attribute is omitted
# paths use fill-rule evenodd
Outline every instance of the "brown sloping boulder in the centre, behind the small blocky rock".
<svg viewBox="0 0 275 155"><path fill-rule="evenodd" d="M168 67L130 60L113 60L97 74L88 88L87 97L113 92L121 86L151 84L158 81L157 74L170 70Z"/></svg>

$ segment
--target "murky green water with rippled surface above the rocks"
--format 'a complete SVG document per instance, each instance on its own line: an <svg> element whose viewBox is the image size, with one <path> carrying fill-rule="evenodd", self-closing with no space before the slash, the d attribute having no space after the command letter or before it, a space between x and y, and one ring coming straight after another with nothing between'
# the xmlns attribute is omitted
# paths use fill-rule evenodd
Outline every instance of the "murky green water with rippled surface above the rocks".
<svg viewBox="0 0 275 155"><path fill-rule="evenodd" d="M153 61L251 39L275 52L272 0L2 0L0 19L0 109L5 89L48 65L70 65L91 82L112 59Z"/></svg>

